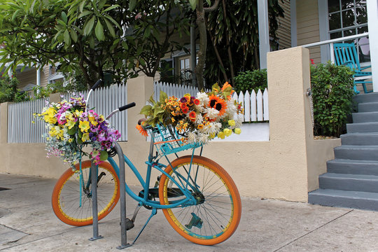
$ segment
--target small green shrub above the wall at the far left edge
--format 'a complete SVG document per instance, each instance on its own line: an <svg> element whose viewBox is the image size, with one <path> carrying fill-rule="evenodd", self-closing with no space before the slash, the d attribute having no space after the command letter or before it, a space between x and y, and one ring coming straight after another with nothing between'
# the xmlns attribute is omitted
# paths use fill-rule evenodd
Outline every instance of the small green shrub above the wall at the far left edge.
<svg viewBox="0 0 378 252"><path fill-rule="evenodd" d="M29 100L25 92L17 89L17 78L10 78L8 75L0 78L0 103L3 102L24 102Z"/></svg>

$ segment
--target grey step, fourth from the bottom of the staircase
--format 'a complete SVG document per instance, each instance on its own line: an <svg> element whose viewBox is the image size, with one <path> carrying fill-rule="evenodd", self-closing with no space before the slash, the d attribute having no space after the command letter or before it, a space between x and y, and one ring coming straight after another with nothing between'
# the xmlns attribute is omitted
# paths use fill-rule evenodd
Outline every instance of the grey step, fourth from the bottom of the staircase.
<svg viewBox="0 0 378 252"><path fill-rule="evenodd" d="M334 148L335 159L378 161L378 146L347 146Z"/></svg>

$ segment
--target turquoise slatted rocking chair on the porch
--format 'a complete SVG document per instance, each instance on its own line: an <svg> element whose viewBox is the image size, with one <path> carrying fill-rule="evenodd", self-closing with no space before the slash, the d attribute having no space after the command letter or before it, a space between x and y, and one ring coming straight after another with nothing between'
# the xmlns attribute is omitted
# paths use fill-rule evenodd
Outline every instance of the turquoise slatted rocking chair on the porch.
<svg viewBox="0 0 378 252"><path fill-rule="evenodd" d="M363 71L365 69L369 69L372 66L365 66L361 68L356 51L356 45L354 45L353 43L335 43L333 44L333 51L335 52L335 63L338 66L349 66L349 68L354 71L354 92L356 92L356 94L360 93L359 91L357 91L356 84L362 84L363 91L365 93L372 92L367 91L366 89L366 84L372 83L372 72Z"/></svg>

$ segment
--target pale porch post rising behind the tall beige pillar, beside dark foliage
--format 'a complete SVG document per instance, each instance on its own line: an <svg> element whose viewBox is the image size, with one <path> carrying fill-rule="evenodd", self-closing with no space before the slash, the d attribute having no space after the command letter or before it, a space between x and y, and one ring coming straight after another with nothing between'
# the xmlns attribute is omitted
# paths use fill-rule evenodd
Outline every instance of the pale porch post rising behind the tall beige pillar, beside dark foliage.
<svg viewBox="0 0 378 252"><path fill-rule="evenodd" d="M267 0L258 0L258 41L260 43L260 69L266 69L267 52L270 51Z"/></svg>

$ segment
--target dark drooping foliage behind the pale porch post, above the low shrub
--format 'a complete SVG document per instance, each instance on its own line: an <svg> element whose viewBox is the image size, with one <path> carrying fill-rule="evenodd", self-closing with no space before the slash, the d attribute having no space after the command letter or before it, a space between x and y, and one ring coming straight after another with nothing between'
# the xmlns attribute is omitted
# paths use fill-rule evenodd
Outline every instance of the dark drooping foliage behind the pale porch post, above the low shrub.
<svg viewBox="0 0 378 252"><path fill-rule="evenodd" d="M269 36L273 43L277 40L277 17L283 17L281 2L268 1ZM229 0L225 1L225 8L220 3L216 11L207 15L207 24L208 39L215 45L209 42L207 47L204 71L207 83L232 80L232 69L236 75L260 68L257 0Z"/></svg>

